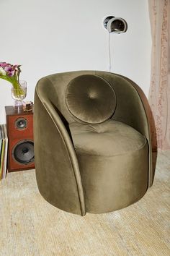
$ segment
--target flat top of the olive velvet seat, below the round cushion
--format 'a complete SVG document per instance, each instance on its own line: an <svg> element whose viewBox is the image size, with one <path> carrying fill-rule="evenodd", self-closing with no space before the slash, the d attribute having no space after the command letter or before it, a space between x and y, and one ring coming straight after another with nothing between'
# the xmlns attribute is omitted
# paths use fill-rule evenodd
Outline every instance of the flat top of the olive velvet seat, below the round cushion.
<svg viewBox="0 0 170 256"><path fill-rule="evenodd" d="M109 119L101 124L69 125L78 155L124 155L143 148L146 137L120 121Z"/></svg>

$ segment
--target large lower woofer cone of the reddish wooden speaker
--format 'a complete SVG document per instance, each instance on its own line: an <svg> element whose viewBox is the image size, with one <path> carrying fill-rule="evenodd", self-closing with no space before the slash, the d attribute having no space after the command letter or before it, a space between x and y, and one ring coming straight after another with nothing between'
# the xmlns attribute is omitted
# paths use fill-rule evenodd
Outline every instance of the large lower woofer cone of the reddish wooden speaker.
<svg viewBox="0 0 170 256"><path fill-rule="evenodd" d="M12 150L12 156L17 163L27 164L35 160L34 142L24 140L18 142Z"/></svg>

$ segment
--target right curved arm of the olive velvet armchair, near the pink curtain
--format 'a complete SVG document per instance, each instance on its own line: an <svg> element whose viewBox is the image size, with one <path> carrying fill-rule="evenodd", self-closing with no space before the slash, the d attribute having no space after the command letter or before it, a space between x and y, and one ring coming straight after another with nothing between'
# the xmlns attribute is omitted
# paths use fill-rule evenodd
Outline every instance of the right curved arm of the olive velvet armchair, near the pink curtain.
<svg viewBox="0 0 170 256"><path fill-rule="evenodd" d="M109 72L96 72L109 82L115 90L117 107L113 119L122 121L138 130L148 140L148 187L153 184L153 164L150 132L150 108L143 91L128 77Z"/></svg>

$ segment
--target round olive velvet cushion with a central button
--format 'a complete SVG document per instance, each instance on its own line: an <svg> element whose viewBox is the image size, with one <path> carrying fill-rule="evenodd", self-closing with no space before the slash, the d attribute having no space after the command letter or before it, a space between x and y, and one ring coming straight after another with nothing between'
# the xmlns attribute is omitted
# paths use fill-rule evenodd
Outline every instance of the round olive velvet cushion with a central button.
<svg viewBox="0 0 170 256"><path fill-rule="evenodd" d="M66 106L77 121L99 124L115 111L115 91L102 77L84 74L68 83Z"/></svg>

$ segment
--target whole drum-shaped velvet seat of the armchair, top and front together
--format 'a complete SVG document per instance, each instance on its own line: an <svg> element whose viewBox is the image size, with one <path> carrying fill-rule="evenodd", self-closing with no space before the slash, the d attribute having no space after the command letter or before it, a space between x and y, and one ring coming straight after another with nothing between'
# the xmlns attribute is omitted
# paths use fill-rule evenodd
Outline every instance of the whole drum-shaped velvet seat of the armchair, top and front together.
<svg viewBox="0 0 170 256"><path fill-rule="evenodd" d="M73 122L70 129L87 212L124 208L146 192L148 147L140 132L112 119L102 124ZM138 184L138 193L134 183Z"/></svg>

